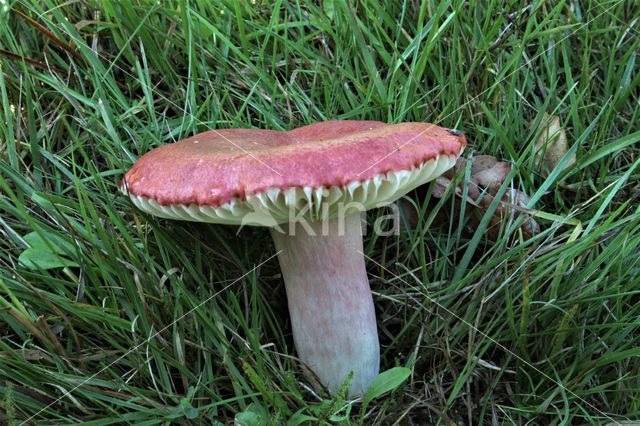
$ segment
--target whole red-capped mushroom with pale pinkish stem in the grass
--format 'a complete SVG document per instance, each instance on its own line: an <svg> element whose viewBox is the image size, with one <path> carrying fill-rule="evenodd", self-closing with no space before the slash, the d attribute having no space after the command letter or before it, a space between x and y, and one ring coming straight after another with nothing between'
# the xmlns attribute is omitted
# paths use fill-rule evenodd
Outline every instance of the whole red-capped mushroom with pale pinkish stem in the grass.
<svg viewBox="0 0 640 426"><path fill-rule="evenodd" d="M465 145L427 123L212 130L146 153L122 190L164 218L269 226L299 358L332 394L353 371L359 396L380 363L359 213L435 179Z"/></svg>

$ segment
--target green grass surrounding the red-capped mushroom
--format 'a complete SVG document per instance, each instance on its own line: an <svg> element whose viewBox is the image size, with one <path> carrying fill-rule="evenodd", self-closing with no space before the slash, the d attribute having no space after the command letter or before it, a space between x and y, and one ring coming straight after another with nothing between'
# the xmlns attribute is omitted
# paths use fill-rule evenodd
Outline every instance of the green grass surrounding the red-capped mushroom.
<svg viewBox="0 0 640 426"><path fill-rule="evenodd" d="M3 1L0 21L0 423L640 419L637 2ZM548 177L541 112L577 157ZM458 128L543 212L527 241L430 211L367 236L382 370L411 371L368 404L300 375L265 230L118 192L197 132L336 118Z"/></svg>

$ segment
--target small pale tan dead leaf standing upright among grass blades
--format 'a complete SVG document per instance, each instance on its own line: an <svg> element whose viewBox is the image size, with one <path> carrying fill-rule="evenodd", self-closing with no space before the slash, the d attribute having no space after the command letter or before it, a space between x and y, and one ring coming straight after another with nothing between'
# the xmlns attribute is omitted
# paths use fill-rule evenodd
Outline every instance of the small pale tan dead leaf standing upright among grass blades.
<svg viewBox="0 0 640 426"><path fill-rule="evenodd" d="M531 127L535 124L537 117L531 122ZM564 129L560 126L560 118L557 115L549 115L546 112L542 114L540 126L538 128L539 136L535 141L537 164L542 162L542 172L545 177L549 176L552 170L560 163L562 158L569 152L567 147L567 136ZM576 156L573 154L563 170L576 162Z"/></svg>

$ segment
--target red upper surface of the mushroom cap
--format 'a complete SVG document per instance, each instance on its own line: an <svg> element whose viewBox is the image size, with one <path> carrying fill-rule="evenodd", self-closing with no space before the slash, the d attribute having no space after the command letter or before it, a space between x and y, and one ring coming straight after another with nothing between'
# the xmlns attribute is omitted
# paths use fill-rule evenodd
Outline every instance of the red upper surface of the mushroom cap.
<svg viewBox="0 0 640 426"><path fill-rule="evenodd" d="M211 130L156 148L126 174L131 196L218 207L272 188L329 188L457 157L464 136L428 123L326 121L291 131ZM421 182L422 183L422 182Z"/></svg>

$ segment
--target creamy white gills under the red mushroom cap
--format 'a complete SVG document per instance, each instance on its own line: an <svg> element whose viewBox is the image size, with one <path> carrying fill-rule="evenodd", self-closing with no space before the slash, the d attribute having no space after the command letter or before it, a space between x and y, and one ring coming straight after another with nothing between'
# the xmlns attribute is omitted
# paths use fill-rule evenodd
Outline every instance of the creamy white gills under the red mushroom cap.
<svg viewBox="0 0 640 426"><path fill-rule="evenodd" d="M330 188L271 188L246 200L235 198L218 207L197 204L161 205L151 198L130 195L140 210L168 219L232 225L275 226L296 220L316 221L382 207L453 167L456 156L441 155L420 167L381 173L364 182Z"/></svg>

